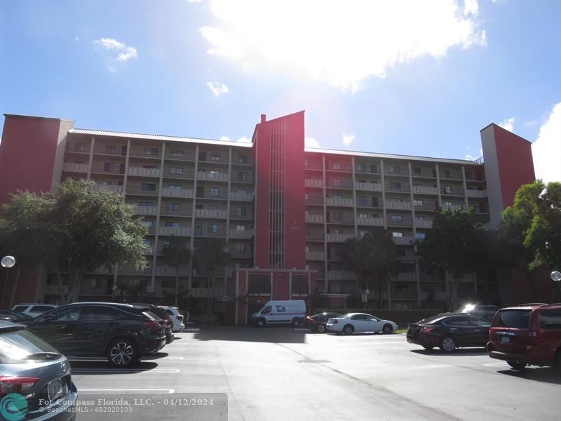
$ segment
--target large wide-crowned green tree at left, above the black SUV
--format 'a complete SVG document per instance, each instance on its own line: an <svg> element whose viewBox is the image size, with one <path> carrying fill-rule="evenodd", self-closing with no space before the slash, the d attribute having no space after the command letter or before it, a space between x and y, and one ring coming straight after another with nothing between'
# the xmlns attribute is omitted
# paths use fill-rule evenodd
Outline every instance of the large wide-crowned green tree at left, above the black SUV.
<svg viewBox="0 0 561 421"><path fill-rule="evenodd" d="M4 204L0 232L22 258L58 276L61 302L77 299L81 279L100 266L144 269L147 228L119 194L93 192L92 181L67 179L53 193L17 192ZM62 295L62 274L69 291Z"/></svg>

